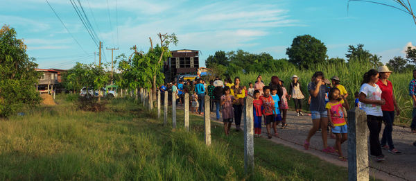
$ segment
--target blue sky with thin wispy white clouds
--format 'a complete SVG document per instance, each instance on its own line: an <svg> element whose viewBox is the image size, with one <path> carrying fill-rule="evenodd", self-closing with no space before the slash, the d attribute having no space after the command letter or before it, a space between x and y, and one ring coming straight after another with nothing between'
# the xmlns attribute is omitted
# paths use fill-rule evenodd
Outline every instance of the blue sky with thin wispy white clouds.
<svg viewBox="0 0 416 181"><path fill-rule="evenodd" d="M98 47L78 17L71 1L1 0L0 23L17 31L42 69L70 69L76 62L98 63ZM78 5L78 0L75 0ZM382 3L395 5L390 0ZM309 34L324 42L329 58L345 58L348 45L364 44L382 62L405 56L416 44L416 24L410 15L374 3L347 0L269 1L141 1L80 0L98 40L103 42L102 62L132 46L147 51L159 42L157 33L175 33L171 50L200 51L204 65L215 51L270 53L288 58L293 38ZM416 1L412 0L416 7ZM78 42L78 43L77 43ZM96 53L96 55L94 55Z"/></svg>

